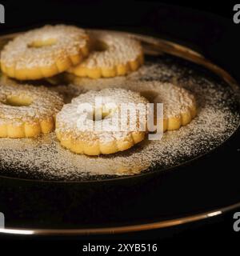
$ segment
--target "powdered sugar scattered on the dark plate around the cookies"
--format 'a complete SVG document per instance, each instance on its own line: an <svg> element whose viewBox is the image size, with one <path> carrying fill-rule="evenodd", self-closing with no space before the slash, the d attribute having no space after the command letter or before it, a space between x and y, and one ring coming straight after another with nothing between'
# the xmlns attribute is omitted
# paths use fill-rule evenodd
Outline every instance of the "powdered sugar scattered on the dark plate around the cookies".
<svg viewBox="0 0 240 256"><path fill-rule="evenodd" d="M61 88L62 91L71 88L74 94L80 94L86 90L100 90L102 86L124 88L136 81L172 82L189 90L196 98L198 115L187 126L166 132L161 141L145 140L130 150L98 157L78 155L63 149L54 133L37 139L2 138L2 174L45 180L108 178L138 174L155 166L161 171L214 149L238 127L237 99L230 86L217 78L209 78L202 70L192 70L184 63L165 56L158 57L158 62L151 58L146 66L126 78L79 79ZM51 89L59 91L59 88L52 86Z"/></svg>

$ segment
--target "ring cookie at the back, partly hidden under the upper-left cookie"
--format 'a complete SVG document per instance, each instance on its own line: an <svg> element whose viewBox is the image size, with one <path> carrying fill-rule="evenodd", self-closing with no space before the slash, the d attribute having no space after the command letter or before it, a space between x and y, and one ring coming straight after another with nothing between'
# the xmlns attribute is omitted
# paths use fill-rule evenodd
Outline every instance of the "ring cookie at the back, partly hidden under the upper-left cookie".
<svg viewBox="0 0 240 256"><path fill-rule="evenodd" d="M140 42L114 32L92 32L93 51L78 66L68 72L80 77L110 78L138 70L143 63Z"/></svg>

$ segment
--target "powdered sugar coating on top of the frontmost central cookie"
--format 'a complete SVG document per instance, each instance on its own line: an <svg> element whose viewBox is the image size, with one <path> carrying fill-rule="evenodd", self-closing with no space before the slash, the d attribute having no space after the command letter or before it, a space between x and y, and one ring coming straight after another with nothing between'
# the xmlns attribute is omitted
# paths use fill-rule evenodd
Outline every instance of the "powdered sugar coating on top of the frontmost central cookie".
<svg viewBox="0 0 240 256"><path fill-rule="evenodd" d="M110 130L93 130L96 122L101 124L101 126L107 126L109 120L103 118L102 120L94 121L92 118L86 118L86 122L79 123L79 118L83 118L85 113L79 113L79 107L83 103L88 103L90 106L95 106L95 99L101 97L102 106L106 104L114 103L115 110L111 114L111 131ZM74 98L70 104L63 106L62 110L57 114L56 118L56 133L61 133L62 136L74 138L74 140L79 139L86 142L100 142L102 144L106 142L113 142L116 140L125 140L132 132L137 131L140 126L140 120L131 119L128 113L121 113L122 103L135 103L138 106L138 111L140 113L146 113L146 104L148 101L143 98L139 93L124 90L122 88L106 88L100 91L91 90L86 94L80 94L77 98ZM142 105L141 105L142 104ZM121 118L126 118L126 123L121 123L119 115ZM136 123L135 123L136 122ZM121 126L121 130L119 129ZM130 127L132 129L130 129ZM134 129L133 129L134 128Z"/></svg>

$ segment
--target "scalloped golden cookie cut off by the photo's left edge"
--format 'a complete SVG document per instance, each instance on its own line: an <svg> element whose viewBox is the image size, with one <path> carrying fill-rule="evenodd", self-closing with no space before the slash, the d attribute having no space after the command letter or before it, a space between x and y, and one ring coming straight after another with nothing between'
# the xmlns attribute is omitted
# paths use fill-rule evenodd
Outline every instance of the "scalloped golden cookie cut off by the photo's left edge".
<svg viewBox="0 0 240 256"><path fill-rule="evenodd" d="M0 80L0 137L24 138L54 130L54 119L63 101L42 86Z"/></svg>

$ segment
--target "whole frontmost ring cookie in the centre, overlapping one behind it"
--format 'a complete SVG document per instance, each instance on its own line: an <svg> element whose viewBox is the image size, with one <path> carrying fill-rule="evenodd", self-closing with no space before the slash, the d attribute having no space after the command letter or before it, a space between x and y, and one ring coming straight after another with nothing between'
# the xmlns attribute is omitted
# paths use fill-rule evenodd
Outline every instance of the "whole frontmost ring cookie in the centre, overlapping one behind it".
<svg viewBox="0 0 240 256"><path fill-rule="evenodd" d="M95 100L98 97L102 98L102 104L96 106ZM146 103L148 102L146 98L130 90L104 89L80 94L70 104L63 106L57 114L57 138L62 146L77 154L113 154L127 150L144 139L146 130L144 128L141 130L145 123L142 123L140 118L134 120L129 118L127 112L123 114L122 103L128 104L130 102L141 103L138 106L138 114L146 113ZM114 106L110 106L111 103L114 103ZM82 104L90 105L92 107L91 113L81 112L83 110ZM121 112L121 128L119 129L120 106L123 112ZM79 110L81 110L80 113ZM94 113L99 110L102 111L102 116L94 120ZM89 113L90 117L88 117ZM124 123L123 119L127 122ZM97 126L108 127L109 123L111 123L110 130L96 129Z"/></svg>

